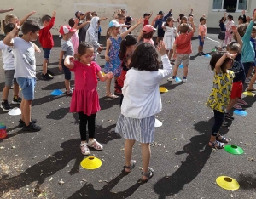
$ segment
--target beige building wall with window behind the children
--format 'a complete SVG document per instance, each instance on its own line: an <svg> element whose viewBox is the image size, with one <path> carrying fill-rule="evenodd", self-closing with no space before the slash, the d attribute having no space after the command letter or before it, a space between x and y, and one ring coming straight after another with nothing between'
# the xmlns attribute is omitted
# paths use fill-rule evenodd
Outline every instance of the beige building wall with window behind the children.
<svg viewBox="0 0 256 199"><path fill-rule="evenodd" d="M10 14L15 14L19 18L24 17L32 10L37 13L30 17L31 20L36 20L41 25L41 18L44 14L51 15L53 10L57 11L55 26L52 28L54 35L59 35L59 28L67 24L68 20L74 17L77 10L85 13L86 11L97 11L100 17L108 17L108 20L102 21L102 35L106 34L108 29L108 22L113 20L113 14L118 9L126 9L127 14L133 18L141 18L144 13L154 12L152 18L161 10L166 14L172 9L172 14L177 19L178 14L183 13L188 15L190 9L194 9L195 25L199 25L199 19L202 14L207 17L207 26L210 28L218 28L218 20L224 15L226 9L233 10L234 13L229 13L234 16L235 23L242 9L246 10L246 15L252 16L254 8L256 8L256 0L44 0L44 1L30 1L30 0L13 0L2 1L1 8L14 7L15 10ZM232 12L233 12L232 11ZM0 19L4 19L5 14L0 14ZM138 34L140 28L133 31ZM1 34L3 32L1 31Z"/></svg>

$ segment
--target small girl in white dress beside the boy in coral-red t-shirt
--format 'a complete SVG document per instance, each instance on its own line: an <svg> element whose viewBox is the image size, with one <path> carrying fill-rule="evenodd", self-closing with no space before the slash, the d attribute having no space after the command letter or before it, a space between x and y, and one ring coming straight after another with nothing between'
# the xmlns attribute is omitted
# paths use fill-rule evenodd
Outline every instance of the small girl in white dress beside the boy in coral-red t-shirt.
<svg viewBox="0 0 256 199"><path fill-rule="evenodd" d="M178 37L177 34L177 29L176 27L173 26L174 20L172 17L168 17L166 22L163 23L163 29L166 31L165 36L164 36L164 43L166 43L166 49L167 52L166 54L168 55L169 60L172 58L172 53L173 53L173 43L175 41L175 37Z"/></svg>

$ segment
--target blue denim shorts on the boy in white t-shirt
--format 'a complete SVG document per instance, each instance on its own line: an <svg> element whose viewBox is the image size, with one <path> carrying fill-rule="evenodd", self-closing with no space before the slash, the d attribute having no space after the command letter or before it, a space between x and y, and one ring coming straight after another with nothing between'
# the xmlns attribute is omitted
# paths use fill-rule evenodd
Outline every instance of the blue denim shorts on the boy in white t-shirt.
<svg viewBox="0 0 256 199"><path fill-rule="evenodd" d="M37 83L36 77L34 78L25 78L18 77L16 78L20 88L23 98L26 100L32 100L35 97L35 86Z"/></svg>

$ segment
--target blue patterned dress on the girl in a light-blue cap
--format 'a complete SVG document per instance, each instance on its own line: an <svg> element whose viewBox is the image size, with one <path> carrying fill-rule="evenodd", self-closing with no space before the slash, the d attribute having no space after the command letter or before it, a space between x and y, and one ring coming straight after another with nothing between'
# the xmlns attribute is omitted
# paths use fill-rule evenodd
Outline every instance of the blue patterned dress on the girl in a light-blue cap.
<svg viewBox="0 0 256 199"><path fill-rule="evenodd" d="M115 77L119 77L122 71L121 60L119 59L120 44L122 42L122 37L118 37L117 40L113 37L109 37L109 39L112 43L108 52L110 62L106 62L104 72L107 74L108 72L112 71Z"/></svg>

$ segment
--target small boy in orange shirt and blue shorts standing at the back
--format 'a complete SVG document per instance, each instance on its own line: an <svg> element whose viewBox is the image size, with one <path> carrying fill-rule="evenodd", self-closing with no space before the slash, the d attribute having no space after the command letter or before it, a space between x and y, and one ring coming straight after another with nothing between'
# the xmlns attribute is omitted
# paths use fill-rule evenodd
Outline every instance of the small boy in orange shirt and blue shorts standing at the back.
<svg viewBox="0 0 256 199"><path fill-rule="evenodd" d="M199 47L198 47L198 56L206 55L203 52L205 38L207 36L207 26L206 26L207 19L205 17L200 18L200 25L199 25L199 32L198 32L198 39L199 39Z"/></svg>

